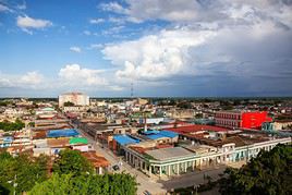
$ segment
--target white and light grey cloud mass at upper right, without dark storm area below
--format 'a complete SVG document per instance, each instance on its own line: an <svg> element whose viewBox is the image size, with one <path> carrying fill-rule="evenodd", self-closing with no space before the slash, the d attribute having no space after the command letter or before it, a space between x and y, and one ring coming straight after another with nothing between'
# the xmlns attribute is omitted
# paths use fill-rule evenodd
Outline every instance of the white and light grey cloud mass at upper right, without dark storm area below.
<svg viewBox="0 0 292 195"><path fill-rule="evenodd" d="M200 65L207 70L212 63L234 63L239 60L234 48L261 45L292 27L292 4L278 1L126 0L125 4L111 2L101 8L119 13L123 22L163 20L172 25L105 47L105 58L119 65L115 75L124 78L161 80L197 74Z"/></svg>

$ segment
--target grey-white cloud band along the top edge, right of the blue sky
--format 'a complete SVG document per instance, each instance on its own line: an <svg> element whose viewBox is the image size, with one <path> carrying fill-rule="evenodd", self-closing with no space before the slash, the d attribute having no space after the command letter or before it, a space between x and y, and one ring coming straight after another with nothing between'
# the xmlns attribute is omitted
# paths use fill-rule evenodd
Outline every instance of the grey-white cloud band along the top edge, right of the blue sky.
<svg viewBox="0 0 292 195"><path fill-rule="evenodd" d="M193 24L216 22L220 25L242 23L245 19L269 17L275 22L291 26L291 3L273 0L126 0L125 7L118 2L102 3L106 11L127 16L127 21L144 22L163 20ZM256 22L256 21L255 21Z"/></svg>

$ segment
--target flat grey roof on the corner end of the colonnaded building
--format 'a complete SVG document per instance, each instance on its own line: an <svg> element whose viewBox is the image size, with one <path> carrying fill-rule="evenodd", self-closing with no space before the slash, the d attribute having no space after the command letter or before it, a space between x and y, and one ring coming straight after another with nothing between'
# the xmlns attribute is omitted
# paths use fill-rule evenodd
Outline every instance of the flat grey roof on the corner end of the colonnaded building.
<svg viewBox="0 0 292 195"><path fill-rule="evenodd" d="M182 147L172 147L172 148L161 148L147 150L147 155L150 155L157 160L170 160L174 158L183 158L188 156L194 156L194 153L191 153Z"/></svg>

